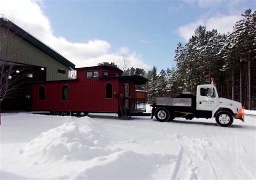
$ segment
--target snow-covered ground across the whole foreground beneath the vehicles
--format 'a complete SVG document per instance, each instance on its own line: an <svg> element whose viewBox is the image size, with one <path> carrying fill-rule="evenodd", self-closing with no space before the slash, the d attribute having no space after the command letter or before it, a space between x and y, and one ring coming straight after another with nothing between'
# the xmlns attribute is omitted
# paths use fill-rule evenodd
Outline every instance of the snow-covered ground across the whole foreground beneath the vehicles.
<svg viewBox="0 0 256 180"><path fill-rule="evenodd" d="M0 179L255 179L255 130L251 116L226 128L210 119L4 113Z"/></svg>

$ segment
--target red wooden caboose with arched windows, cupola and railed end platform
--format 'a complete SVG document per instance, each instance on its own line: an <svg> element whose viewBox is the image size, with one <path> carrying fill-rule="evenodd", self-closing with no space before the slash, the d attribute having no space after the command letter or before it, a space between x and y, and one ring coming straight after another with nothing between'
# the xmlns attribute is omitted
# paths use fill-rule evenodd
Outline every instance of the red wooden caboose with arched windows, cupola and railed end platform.
<svg viewBox="0 0 256 180"><path fill-rule="evenodd" d="M70 115L90 112L118 113L118 98L123 93L130 116L145 112L145 99L136 99L136 85L145 85L141 76L122 76L123 71L110 66L76 68L75 80L36 82L32 84L31 109L51 114Z"/></svg>

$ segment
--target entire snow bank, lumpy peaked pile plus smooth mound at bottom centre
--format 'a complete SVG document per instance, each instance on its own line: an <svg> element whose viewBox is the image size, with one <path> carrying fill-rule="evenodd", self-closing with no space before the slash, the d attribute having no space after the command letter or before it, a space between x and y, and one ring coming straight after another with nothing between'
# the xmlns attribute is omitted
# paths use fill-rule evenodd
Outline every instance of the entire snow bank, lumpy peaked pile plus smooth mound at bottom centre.
<svg viewBox="0 0 256 180"><path fill-rule="evenodd" d="M29 167L40 170L51 167L47 178L65 176L69 179L149 179L177 159L176 155L138 153L113 147L104 131L100 122L89 117L66 122L19 148L17 155L22 163L29 162ZM126 143L138 142L130 139ZM65 169L60 176L56 174L57 167L58 171ZM163 176L167 178L169 173Z"/></svg>

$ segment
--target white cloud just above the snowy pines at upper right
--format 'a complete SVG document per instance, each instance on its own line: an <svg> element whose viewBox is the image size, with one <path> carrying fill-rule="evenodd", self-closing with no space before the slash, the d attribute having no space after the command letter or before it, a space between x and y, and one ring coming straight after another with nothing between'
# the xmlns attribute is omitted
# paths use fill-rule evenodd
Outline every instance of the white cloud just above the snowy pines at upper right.
<svg viewBox="0 0 256 180"><path fill-rule="evenodd" d="M227 33L233 30L233 26L236 21L241 19L238 15L228 15L228 16L216 16L210 17L208 19L199 19L194 23L190 23L178 28L178 34L185 41L191 38L194 31L199 25L205 25L207 30L212 30L213 28L218 30L219 33Z"/></svg>

